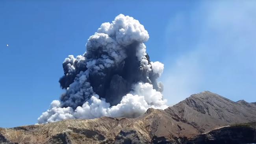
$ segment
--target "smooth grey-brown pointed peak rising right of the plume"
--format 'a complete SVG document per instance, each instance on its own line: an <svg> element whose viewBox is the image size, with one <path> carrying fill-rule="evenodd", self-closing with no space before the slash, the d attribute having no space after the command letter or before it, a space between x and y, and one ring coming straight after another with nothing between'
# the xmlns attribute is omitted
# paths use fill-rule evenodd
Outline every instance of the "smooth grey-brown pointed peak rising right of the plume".
<svg viewBox="0 0 256 144"><path fill-rule="evenodd" d="M206 91L193 94L165 111L204 133L224 125L255 122L256 105L245 103L233 102Z"/></svg>

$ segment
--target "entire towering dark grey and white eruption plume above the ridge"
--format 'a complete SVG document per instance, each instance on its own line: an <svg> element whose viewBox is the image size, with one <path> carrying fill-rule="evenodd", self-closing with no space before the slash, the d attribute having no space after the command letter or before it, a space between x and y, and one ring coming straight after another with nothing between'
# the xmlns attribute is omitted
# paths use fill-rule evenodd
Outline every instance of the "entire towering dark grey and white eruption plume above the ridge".
<svg viewBox="0 0 256 144"><path fill-rule="evenodd" d="M66 92L52 101L39 123L100 116L134 118L148 108L165 109L163 64L150 62L143 42L149 35L132 17L118 15L89 37L86 52L63 62L59 83Z"/></svg>

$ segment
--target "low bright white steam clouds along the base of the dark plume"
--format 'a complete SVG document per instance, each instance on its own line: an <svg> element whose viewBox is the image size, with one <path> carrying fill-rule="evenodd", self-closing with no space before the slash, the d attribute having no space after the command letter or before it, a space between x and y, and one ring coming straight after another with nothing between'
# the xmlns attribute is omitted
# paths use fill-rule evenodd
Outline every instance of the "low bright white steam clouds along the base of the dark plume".
<svg viewBox="0 0 256 144"><path fill-rule="evenodd" d="M48 123L74 118L91 119L100 116L135 118L150 107L166 109L168 107L165 105L166 102L161 92L153 89L149 83L137 83L134 85L134 90L123 96L121 102L114 106L110 106L104 98L100 99L97 94L75 110L71 107L61 108L61 103L54 100L50 108L38 118L38 122Z"/></svg>

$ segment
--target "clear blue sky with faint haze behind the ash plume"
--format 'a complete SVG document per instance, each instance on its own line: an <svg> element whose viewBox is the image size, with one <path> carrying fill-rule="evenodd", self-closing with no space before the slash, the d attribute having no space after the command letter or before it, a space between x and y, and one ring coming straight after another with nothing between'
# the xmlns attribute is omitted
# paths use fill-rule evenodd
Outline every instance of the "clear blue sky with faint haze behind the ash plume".
<svg viewBox="0 0 256 144"><path fill-rule="evenodd" d="M89 36L120 13L148 31L169 105L204 90L256 102L255 9L255 1L1 0L0 127L35 124L63 93L65 57L83 54Z"/></svg>

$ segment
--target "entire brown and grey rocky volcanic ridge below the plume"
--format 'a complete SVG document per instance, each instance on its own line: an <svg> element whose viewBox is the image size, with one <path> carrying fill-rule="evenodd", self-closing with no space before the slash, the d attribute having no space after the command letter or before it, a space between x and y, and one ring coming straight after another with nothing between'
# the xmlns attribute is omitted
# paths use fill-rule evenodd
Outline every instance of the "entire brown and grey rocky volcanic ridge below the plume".
<svg viewBox="0 0 256 144"><path fill-rule="evenodd" d="M210 144L230 140L253 143L256 142L253 122L256 122L256 104L244 100L233 102L206 91L165 110L150 108L138 118L101 117L0 128L0 143ZM246 131L250 131L248 137L243 133Z"/></svg>

